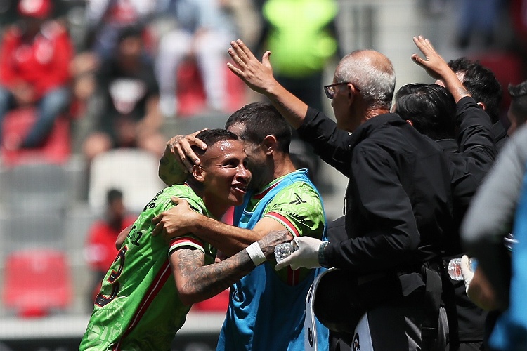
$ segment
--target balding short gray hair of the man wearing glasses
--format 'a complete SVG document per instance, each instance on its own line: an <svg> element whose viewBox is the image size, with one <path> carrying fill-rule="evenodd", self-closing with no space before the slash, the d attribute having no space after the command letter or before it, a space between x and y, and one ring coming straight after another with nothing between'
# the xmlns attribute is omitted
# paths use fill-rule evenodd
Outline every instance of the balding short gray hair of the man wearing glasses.
<svg viewBox="0 0 527 351"><path fill-rule="evenodd" d="M356 86L369 108L390 109L396 77L391 61L382 53L374 50L349 53L339 62L335 79Z"/></svg>

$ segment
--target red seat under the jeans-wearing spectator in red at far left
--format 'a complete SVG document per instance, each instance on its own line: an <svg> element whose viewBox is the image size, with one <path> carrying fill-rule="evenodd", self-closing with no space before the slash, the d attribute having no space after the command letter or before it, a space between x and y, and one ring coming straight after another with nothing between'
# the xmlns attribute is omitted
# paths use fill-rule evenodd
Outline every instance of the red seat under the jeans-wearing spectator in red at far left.
<svg viewBox="0 0 527 351"><path fill-rule="evenodd" d="M2 124L2 140L9 138L24 138L29 133L36 119L34 107L11 110L4 117ZM59 117L44 145L34 149L7 150L1 145L0 153L4 164L28 163L32 161L61 164L67 161L71 154L70 121L67 117Z"/></svg>

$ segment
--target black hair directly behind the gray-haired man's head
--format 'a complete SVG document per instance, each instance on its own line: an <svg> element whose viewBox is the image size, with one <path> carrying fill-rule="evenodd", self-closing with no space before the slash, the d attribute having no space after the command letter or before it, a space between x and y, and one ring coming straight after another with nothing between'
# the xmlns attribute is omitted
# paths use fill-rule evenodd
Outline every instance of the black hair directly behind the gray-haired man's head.
<svg viewBox="0 0 527 351"><path fill-rule="evenodd" d="M396 93L396 114L433 140L455 138L455 100L437 84L407 84Z"/></svg>

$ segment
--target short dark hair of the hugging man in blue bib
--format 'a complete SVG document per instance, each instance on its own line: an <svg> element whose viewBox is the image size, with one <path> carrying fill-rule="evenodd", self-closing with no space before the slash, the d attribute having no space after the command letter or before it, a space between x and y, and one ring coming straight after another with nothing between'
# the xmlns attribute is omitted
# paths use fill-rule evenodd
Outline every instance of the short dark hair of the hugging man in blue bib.
<svg viewBox="0 0 527 351"><path fill-rule="evenodd" d="M274 135L278 141L278 150L289 152L292 135L291 126L271 103L252 102L245 105L230 115L225 128L234 124L245 126L245 131L240 135L240 139L260 144L267 135Z"/></svg>

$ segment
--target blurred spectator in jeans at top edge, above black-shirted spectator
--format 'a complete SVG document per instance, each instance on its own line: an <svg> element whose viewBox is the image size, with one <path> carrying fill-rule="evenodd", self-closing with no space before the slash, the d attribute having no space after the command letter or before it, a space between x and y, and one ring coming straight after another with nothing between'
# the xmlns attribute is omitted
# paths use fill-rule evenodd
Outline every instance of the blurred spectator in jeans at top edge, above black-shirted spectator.
<svg viewBox="0 0 527 351"><path fill-rule="evenodd" d="M143 29L156 9L155 0L90 0L87 1L87 48L100 60L115 53L119 32L132 25ZM147 34L148 32L143 32Z"/></svg>

